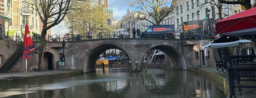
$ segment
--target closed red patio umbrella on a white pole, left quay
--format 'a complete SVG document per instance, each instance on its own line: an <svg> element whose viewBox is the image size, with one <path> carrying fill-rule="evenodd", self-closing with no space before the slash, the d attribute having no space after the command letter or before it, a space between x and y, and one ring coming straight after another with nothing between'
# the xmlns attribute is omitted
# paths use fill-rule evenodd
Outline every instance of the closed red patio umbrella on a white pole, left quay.
<svg viewBox="0 0 256 98"><path fill-rule="evenodd" d="M29 32L29 25L25 25L25 34L24 34L24 40L23 40L23 59L26 59L26 73L27 73L27 59L29 59L29 52L35 50L35 47L33 45L30 32Z"/></svg>

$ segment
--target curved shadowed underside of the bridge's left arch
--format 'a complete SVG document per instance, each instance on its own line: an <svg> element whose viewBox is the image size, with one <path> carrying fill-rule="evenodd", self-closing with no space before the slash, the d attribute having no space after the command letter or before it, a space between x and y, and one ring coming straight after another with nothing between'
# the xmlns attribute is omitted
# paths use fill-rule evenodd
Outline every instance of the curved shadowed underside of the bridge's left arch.
<svg viewBox="0 0 256 98"><path fill-rule="evenodd" d="M84 63L84 72L95 71L97 60L100 59L99 57L101 55L103 55L103 57L110 56L109 54L106 54L105 51L111 50L111 49L120 50L120 52L123 53L123 56L126 57L124 63L127 64L129 62L130 59L129 59L129 56L126 54L125 50L113 44L103 44L103 45L97 46L96 48L91 50L90 53L88 53L89 55L87 55ZM115 56L115 55L112 55L112 56Z"/></svg>

